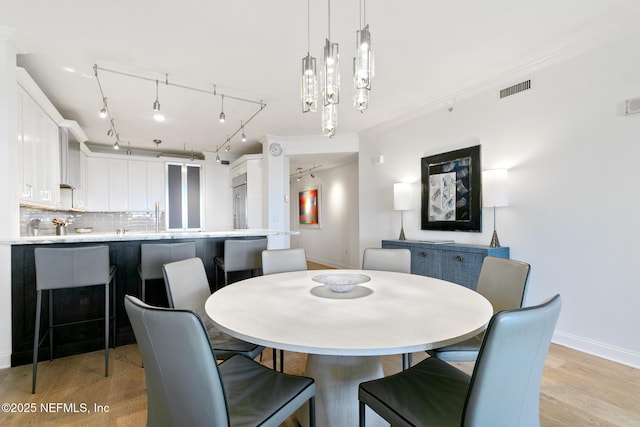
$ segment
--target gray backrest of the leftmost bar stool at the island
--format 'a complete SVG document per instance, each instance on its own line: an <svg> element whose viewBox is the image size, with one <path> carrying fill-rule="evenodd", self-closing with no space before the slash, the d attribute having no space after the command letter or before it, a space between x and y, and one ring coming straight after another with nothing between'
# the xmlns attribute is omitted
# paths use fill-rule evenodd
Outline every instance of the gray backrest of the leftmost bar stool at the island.
<svg viewBox="0 0 640 427"><path fill-rule="evenodd" d="M36 290L109 282L109 247L36 248Z"/></svg>

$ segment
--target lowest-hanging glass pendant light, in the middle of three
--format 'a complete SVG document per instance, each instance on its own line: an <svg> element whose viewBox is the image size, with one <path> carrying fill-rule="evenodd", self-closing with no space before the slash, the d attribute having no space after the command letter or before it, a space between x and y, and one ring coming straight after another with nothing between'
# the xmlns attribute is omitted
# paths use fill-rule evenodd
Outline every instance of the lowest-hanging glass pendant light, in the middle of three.
<svg viewBox="0 0 640 427"><path fill-rule="evenodd" d="M338 108L340 103L340 55L338 43L331 43L331 0L327 0L328 33L324 44L323 86L322 86L322 133L332 137L338 125Z"/></svg>

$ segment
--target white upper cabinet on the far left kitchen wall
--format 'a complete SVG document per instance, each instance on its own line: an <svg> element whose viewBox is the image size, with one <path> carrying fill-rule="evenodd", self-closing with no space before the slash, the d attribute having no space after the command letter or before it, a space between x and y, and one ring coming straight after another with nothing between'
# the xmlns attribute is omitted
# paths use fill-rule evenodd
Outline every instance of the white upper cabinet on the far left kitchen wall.
<svg viewBox="0 0 640 427"><path fill-rule="evenodd" d="M17 91L20 200L60 206L60 143L56 122L22 87Z"/></svg>

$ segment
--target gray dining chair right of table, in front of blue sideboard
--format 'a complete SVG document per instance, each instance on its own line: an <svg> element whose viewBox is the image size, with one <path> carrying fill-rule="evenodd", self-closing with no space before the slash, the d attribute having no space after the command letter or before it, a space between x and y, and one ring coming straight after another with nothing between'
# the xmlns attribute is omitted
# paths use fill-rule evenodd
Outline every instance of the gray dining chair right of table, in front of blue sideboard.
<svg viewBox="0 0 640 427"><path fill-rule="evenodd" d="M526 262L485 257L476 291L489 300L493 312L522 307L531 267ZM473 362L478 357L484 333L458 344L429 350L430 356L447 362Z"/></svg>

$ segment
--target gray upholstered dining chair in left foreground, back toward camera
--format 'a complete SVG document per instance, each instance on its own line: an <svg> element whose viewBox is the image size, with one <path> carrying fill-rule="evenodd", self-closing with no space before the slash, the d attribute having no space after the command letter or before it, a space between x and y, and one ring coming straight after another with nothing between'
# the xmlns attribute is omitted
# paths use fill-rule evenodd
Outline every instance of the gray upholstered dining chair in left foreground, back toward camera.
<svg viewBox="0 0 640 427"><path fill-rule="evenodd" d="M275 427L306 402L315 424L313 379L238 355L218 365L196 313L129 295L124 305L145 366L148 426Z"/></svg>

